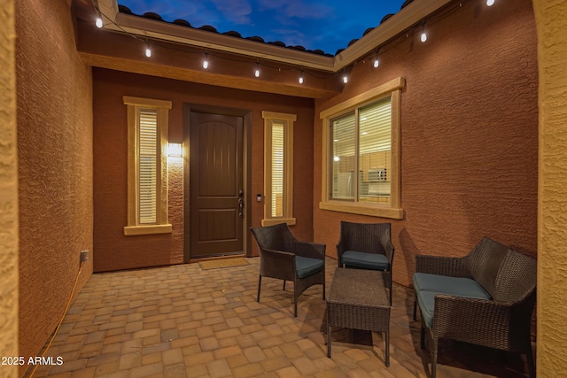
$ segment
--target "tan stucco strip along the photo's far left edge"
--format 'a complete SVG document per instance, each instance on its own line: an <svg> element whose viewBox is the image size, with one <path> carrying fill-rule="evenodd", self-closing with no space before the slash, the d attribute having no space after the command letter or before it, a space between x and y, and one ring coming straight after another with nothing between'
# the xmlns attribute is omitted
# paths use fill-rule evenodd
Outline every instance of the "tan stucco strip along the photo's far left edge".
<svg viewBox="0 0 567 378"><path fill-rule="evenodd" d="M14 2L0 2L0 357L18 356L18 143ZM18 374L0 366L0 377Z"/></svg>

